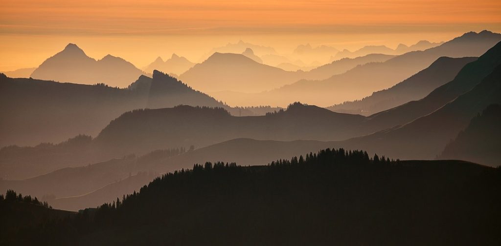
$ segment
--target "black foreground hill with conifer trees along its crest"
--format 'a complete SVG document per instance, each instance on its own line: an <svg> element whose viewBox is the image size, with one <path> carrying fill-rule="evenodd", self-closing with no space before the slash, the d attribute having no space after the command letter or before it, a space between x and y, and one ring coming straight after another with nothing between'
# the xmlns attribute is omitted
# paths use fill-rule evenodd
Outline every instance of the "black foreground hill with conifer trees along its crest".
<svg viewBox="0 0 501 246"><path fill-rule="evenodd" d="M222 162L3 240L72 245L496 245L501 172L325 149L266 166ZM32 212L26 209L26 212ZM70 242L70 243L67 243Z"/></svg>

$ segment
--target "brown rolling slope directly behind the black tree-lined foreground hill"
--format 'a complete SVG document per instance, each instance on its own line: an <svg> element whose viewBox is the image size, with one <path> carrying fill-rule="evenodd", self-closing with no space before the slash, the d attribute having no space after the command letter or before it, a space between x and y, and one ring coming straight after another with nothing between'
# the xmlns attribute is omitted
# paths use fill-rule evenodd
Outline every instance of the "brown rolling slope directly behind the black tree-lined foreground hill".
<svg viewBox="0 0 501 246"><path fill-rule="evenodd" d="M190 168L193 163L218 159L242 165L260 165L334 145L333 142L315 140L237 138L187 152L184 148L156 150L139 157L129 155L91 165L65 167L23 180L0 180L0 190L15 189L44 197L55 208L79 210L95 207L124 193L138 190L153 179L152 175L156 173ZM75 158L84 159L86 156L75 155ZM56 159L55 162L57 161ZM129 177L131 178L127 179ZM145 180L148 177L150 179Z"/></svg>

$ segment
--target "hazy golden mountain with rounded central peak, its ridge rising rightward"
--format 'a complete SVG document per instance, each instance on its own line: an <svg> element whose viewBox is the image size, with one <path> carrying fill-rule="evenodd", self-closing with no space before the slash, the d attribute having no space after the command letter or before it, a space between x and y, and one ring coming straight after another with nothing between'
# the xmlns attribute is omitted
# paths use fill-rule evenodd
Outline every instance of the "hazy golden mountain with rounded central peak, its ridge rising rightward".
<svg viewBox="0 0 501 246"><path fill-rule="evenodd" d="M262 64L244 54L214 53L207 60L196 64L181 74L179 78L196 89L210 93L216 98L228 99L236 105L260 105L258 100L252 103L237 101L229 96L231 91L261 92L277 88L302 78L325 79L334 74L345 72L360 64L385 61L393 56L371 54L354 59L341 59L306 71L286 71ZM256 57L254 57L256 58ZM243 97L245 98L245 97ZM294 97L290 97L294 98Z"/></svg>

